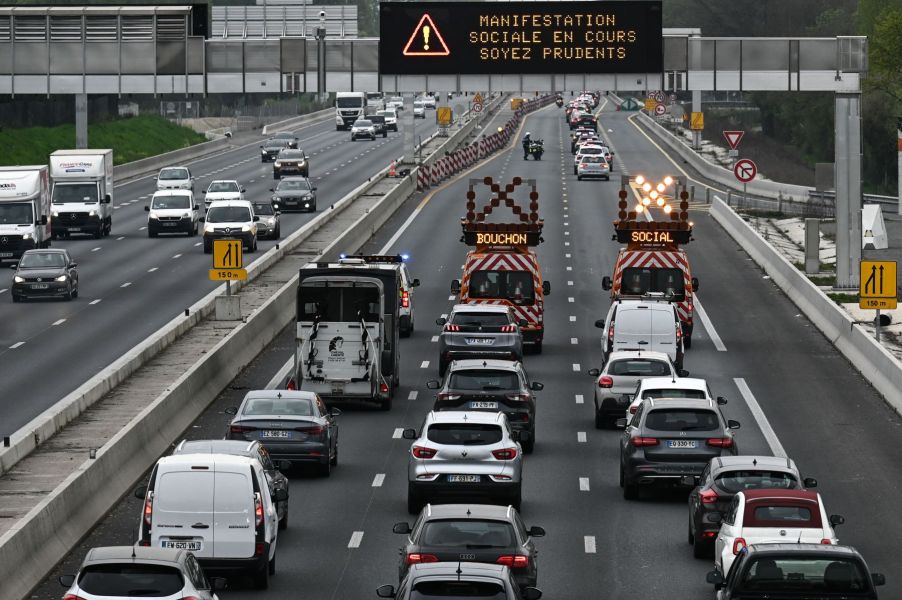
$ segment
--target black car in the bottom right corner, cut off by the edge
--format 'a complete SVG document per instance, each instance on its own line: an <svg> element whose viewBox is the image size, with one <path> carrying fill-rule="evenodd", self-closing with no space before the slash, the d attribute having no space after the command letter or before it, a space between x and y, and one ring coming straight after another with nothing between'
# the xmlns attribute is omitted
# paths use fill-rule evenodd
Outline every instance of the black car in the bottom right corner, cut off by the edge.
<svg viewBox="0 0 902 600"><path fill-rule="evenodd" d="M886 583L854 548L826 544L752 544L726 577L711 571L707 580L716 600L876 600Z"/></svg>

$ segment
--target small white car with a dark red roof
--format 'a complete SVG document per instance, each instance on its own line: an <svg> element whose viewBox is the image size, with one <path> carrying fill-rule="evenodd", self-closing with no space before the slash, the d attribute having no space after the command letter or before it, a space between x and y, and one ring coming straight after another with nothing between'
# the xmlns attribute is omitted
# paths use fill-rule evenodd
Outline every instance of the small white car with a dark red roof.
<svg viewBox="0 0 902 600"><path fill-rule="evenodd" d="M755 489L741 491L723 515L714 543L714 566L724 577L736 556L752 544L839 543L834 527L845 523L830 515L817 492Z"/></svg>

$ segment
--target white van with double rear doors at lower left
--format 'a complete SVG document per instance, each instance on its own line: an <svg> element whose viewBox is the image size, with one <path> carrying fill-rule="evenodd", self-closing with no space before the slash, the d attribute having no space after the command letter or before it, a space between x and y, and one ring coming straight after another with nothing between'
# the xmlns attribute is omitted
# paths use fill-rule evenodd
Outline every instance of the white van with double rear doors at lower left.
<svg viewBox="0 0 902 600"><path fill-rule="evenodd" d="M144 500L139 546L189 550L205 571L244 571L257 588L269 586L278 539L274 501L284 498L270 497L259 461L228 454L167 456L135 497Z"/></svg>

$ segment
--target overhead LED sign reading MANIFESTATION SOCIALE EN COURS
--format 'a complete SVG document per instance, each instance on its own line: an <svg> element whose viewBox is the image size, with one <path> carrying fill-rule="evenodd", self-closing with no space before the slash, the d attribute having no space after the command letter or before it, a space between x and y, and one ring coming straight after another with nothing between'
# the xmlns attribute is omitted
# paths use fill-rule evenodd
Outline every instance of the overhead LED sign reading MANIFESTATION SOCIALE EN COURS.
<svg viewBox="0 0 902 600"><path fill-rule="evenodd" d="M382 2L382 75L659 73L661 0Z"/></svg>

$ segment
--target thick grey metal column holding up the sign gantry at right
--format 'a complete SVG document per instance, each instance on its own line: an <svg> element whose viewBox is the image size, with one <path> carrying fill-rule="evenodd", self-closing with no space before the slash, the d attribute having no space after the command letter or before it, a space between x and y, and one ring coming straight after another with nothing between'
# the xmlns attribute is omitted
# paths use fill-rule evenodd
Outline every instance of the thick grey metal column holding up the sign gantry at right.
<svg viewBox="0 0 902 600"><path fill-rule="evenodd" d="M861 94L835 95L836 287L858 287L861 260Z"/></svg>

